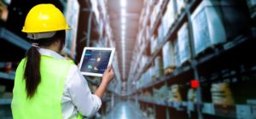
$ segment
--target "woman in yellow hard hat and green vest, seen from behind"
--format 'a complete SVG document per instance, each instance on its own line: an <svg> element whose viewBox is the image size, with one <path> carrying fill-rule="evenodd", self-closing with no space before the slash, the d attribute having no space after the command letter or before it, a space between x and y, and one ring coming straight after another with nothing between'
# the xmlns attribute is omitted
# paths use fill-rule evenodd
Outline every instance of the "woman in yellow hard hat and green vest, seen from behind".
<svg viewBox="0 0 256 119"><path fill-rule="evenodd" d="M22 31L32 39L32 47L16 71L11 105L15 119L82 118L101 107L113 69L104 72L102 83L91 94L78 67L60 55L69 29L52 4L39 4L26 15Z"/></svg>

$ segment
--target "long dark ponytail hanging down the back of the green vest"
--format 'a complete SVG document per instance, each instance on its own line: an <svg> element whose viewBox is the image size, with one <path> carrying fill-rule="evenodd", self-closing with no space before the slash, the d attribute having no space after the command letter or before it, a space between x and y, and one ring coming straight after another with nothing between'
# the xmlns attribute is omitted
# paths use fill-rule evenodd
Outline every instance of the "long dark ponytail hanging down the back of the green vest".
<svg viewBox="0 0 256 119"><path fill-rule="evenodd" d="M26 80L26 96L31 99L36 94L38 85L41 82L40 53L34 46L29 48L26 53L24 77Z"/></svg>

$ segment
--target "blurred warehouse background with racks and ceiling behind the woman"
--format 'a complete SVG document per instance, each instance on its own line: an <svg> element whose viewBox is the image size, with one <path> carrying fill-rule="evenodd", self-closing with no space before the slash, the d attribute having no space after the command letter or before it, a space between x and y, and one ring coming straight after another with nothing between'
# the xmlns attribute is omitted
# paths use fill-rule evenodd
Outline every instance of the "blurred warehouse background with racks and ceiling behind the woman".
<svg viewBox="0 0 256 119"><path fill-rule="evenodd" d="M85 46L116 48L94 118L256 118L255 0L0 0L0 118L12 118L15 69L30 47L20 29L38 3L65 14L73 31L62 55L75 63ZM96 91L101 79L85 78Z"/></svg>

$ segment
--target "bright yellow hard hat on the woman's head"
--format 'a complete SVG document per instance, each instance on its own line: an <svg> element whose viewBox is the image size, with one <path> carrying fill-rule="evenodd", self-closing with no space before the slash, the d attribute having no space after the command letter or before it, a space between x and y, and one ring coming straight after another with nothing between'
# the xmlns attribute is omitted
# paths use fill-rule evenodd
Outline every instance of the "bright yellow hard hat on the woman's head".
<svg viewBox="0 0 256 119"><path fill-rule="evenodd" d="M69 30L67 22L61 11L53 4L38 4L26 15L22 31L38 33L48 31Z"/></svg>

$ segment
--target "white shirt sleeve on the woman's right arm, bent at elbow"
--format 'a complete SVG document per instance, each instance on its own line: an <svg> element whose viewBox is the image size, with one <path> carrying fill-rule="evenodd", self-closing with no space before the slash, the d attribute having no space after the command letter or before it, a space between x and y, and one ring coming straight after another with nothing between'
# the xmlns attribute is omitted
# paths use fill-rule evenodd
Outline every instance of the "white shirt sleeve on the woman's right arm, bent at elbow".
<svg viewBox="0 0 256 119"><path fill-rule="evenodd" d="M73 72L73 77L70 77L71 79L67 82L73 104L81 115L93 116L101 108L102 100L96 95L91 94L88 83L80 73L77 65L72 65L69 71Z"/></svg>

